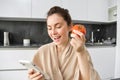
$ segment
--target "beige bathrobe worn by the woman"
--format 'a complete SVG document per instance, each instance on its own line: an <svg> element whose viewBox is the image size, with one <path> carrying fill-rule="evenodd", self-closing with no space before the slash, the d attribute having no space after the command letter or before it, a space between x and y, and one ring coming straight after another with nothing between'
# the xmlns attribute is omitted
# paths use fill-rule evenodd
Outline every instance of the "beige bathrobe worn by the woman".
<svg viewBox="0 0 120 80"><path fill-rule="evenodd" d="M100 80L98 73L94 70L91 58L85 49L90 64L90 80ZM70 45L57 55L56 45L49 43L41 46L33 58L34 64L39 66L43 72L47 73L50 80L80 80L80 68L75 50Z"/></svg>

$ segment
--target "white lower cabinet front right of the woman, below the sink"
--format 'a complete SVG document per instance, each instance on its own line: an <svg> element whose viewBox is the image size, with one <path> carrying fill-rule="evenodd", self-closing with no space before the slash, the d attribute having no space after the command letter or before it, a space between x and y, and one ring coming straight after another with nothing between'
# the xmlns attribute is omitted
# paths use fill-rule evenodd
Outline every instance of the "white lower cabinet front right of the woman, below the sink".
<svg viewBox="0 0 120 80"><path fill-rule="evenodd" d="M93 65L98 71L102 80L110 80L114 78L116 55L115 49L115 47L88 48Z"/></svg>

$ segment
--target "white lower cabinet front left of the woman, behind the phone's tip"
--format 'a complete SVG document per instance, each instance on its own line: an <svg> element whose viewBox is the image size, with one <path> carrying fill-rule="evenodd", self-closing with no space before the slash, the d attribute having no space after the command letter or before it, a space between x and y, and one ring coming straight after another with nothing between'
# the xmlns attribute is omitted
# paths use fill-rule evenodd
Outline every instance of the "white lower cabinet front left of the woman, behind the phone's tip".
<svg viewBox="0 0 120 80"><path fill-rule="evenodd" d="M32 60L36 50L0 50L0 70L25 69L18 61Z"/></svg>

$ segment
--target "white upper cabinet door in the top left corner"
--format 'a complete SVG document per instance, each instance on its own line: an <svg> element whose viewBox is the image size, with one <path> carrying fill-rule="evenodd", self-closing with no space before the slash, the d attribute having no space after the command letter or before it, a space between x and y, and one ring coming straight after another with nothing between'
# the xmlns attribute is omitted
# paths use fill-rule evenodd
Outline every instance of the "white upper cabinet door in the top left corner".
<svg viewBox="0 0 120 80"><path fill-rule="evenodd" d="M0 0L0 17L31 17L31 0Z"/></svg>

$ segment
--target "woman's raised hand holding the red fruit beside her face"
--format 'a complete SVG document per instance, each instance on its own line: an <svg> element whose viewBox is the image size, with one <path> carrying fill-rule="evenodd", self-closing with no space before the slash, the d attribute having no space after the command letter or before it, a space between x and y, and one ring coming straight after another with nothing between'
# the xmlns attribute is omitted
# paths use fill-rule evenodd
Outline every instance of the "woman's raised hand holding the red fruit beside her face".
<svg viewBox="0 0 120 80"><path fill-rule="evenodd" d="M73 46L73 48L75 48L77 51L81 51L84 48L85 45L85 35L77 30L73 30L73 34L71 34L71 45Z"/></svg>

